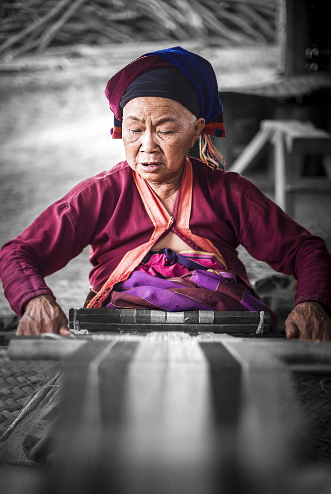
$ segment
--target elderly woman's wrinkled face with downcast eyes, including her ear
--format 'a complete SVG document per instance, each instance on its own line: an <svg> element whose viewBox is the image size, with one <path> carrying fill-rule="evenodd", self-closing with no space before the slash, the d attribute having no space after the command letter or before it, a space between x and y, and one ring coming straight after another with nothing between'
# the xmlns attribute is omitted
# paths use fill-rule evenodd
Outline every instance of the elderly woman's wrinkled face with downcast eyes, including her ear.
<svg viewBox="0 0 331 494"><path fill-rule="evenodd" d="M172 99L132 99L124 108L122 124L127 162L151 183L178 180L204 124Z"/></svg>

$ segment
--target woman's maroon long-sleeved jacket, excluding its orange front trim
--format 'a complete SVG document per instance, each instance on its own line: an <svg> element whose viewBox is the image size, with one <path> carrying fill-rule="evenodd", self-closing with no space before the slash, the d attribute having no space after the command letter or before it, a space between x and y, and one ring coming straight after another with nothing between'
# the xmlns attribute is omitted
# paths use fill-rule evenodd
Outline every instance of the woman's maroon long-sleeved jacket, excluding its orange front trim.
<svg viewBox="0 0 331 494"><path fill-rule="evenodd" d="M192 234L211 241L228 269L245 282L245 268L236 252L239 244L276 271L297 278L296 303L317 300L331 308L331 255L324 241L237 173L190 161ZM169 230L176 228L177 209L178 201ZM21 315L29 298L52 294L44 277L64 267L87 245L92 246L91 287L99 291L128 250L148 242L153 230L132 169L121 162L78 184L2 247L5 296Z"/></svg>

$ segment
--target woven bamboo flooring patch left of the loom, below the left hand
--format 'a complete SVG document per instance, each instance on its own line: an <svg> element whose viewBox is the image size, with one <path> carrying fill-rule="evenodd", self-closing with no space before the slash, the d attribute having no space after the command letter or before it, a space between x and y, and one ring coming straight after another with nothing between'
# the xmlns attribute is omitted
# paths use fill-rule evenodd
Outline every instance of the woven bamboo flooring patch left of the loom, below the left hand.
<svg viewBox="0 0 331 494"><path fill-rule="evenodd" d="M10 360L6 347L0 347L0 435L56 369L49 360Z"/></svg>

